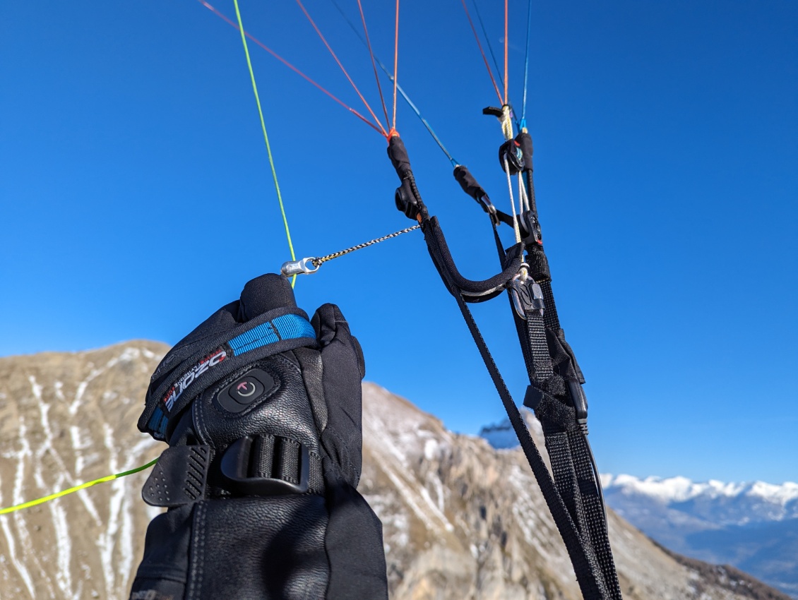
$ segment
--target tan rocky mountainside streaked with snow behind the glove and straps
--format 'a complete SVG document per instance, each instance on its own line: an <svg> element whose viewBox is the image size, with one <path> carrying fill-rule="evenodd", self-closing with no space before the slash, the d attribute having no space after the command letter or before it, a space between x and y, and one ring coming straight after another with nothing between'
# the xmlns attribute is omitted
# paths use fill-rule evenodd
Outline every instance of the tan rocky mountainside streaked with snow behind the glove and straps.
<svg viewBox="0 0 798 600"><path fill-rule="evenodd" d="M136 430L166 346L0 359L0 505L124 471L163 448ZM361 491L385 530L391 598L579 598L571 563L518 450L448 432L364 386ZM0 598L127 598L152 518L146 473L0 516ZM784 600L728 567L662 550L610 512L624 598Z"/></svg>

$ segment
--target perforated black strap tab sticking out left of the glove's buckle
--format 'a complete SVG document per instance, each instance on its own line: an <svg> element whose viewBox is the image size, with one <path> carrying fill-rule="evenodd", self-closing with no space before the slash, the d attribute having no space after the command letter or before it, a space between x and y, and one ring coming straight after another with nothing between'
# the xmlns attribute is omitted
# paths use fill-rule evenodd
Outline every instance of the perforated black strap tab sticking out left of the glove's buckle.
<svg viewBox="0 0 798 600"><path fill-rule="evenodd" d="M141 497L150 506L178 507L205 495L211 447L175 446L161 453L152 468Z"/></svg>

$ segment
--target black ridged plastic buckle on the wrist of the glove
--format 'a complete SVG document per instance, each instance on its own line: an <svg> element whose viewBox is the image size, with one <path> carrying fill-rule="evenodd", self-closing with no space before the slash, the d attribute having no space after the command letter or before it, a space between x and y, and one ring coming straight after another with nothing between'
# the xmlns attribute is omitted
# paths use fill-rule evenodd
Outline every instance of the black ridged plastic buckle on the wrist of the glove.
<svg viewBox="0 0 798 600"><path fill-rule="evenodd" d="M231 491L241 494L304 494L309 488L310 452L288 437L246 436L227 448L220 469Z"/></svg>

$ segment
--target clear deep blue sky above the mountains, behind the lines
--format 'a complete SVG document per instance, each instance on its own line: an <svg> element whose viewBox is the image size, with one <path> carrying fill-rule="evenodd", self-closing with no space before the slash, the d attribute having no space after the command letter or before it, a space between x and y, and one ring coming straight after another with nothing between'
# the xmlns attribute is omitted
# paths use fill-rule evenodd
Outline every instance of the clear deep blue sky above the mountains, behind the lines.
<svg viewBox="0 0 798 600"><path fill-rule="evenodd" d="M479 2L501 51L500 2ZM364 4L391 61L392 3ZM510 5L518 107L526 3ZM362 110L298 6L241 6ZM307 6L377 110L365 49L330 2ZM460 2L401 10L401 85L505 207L499 128L480 114L496 96ZM539 210L602 472L798 480L796 30L788 0L533 2ZM385 141L251 53L298 255L407 227ZM174 343L289 258L238 33L196 0L3 2L0 81L0 354ZM397 126L461 270L492 274L484 213L403 104ZM457 431L503 416L418 232L296 291L310 313L342 307L370 380ZM476 316L520 398L508 306L491 304Z"/></svg>

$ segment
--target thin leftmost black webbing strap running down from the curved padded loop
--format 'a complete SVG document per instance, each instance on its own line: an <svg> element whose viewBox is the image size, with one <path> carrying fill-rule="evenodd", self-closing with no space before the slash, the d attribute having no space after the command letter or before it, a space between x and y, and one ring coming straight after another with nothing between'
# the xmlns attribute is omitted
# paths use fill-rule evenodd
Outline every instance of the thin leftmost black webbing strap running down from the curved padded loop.
<svg viewBox="0 0 798 600"><path fill-rule="evenodd" d="M476 321L474 321L471 310L468 309L468 304L461 294L455 294L455 299L457 306L460 307L460 313L463 314L468 330L476 343L476 347L480 351L485 367L488 369L493 385L496 386L496 392L499 393L504 410L507 411L512 428L516 432L516 436L518 436L523 454L527 457L527 462L535 475L540 491L543 493L543 498L546 500L549 511L551 511L551 516L555 520L560 535L563 536L563 542L568 551L568 556L571 558L571 563L573 563L576 579L579 582L579 589L582 590L583 597L585 600L609 600L614 598L607 593L601 565L596 559L590 543L586 543L586 540L580 535L574 520L571 518L570 511L563 503L563 498L560 496L555 482L551 479L551 474L543 462L543 458L540 456L540 452L535 446L535 441L532 440L526 424L523 423L521 413L519 413L507 384L504 382L504 378L493 360L488 345L482 338L479 327L476 326Z"/></svg>

